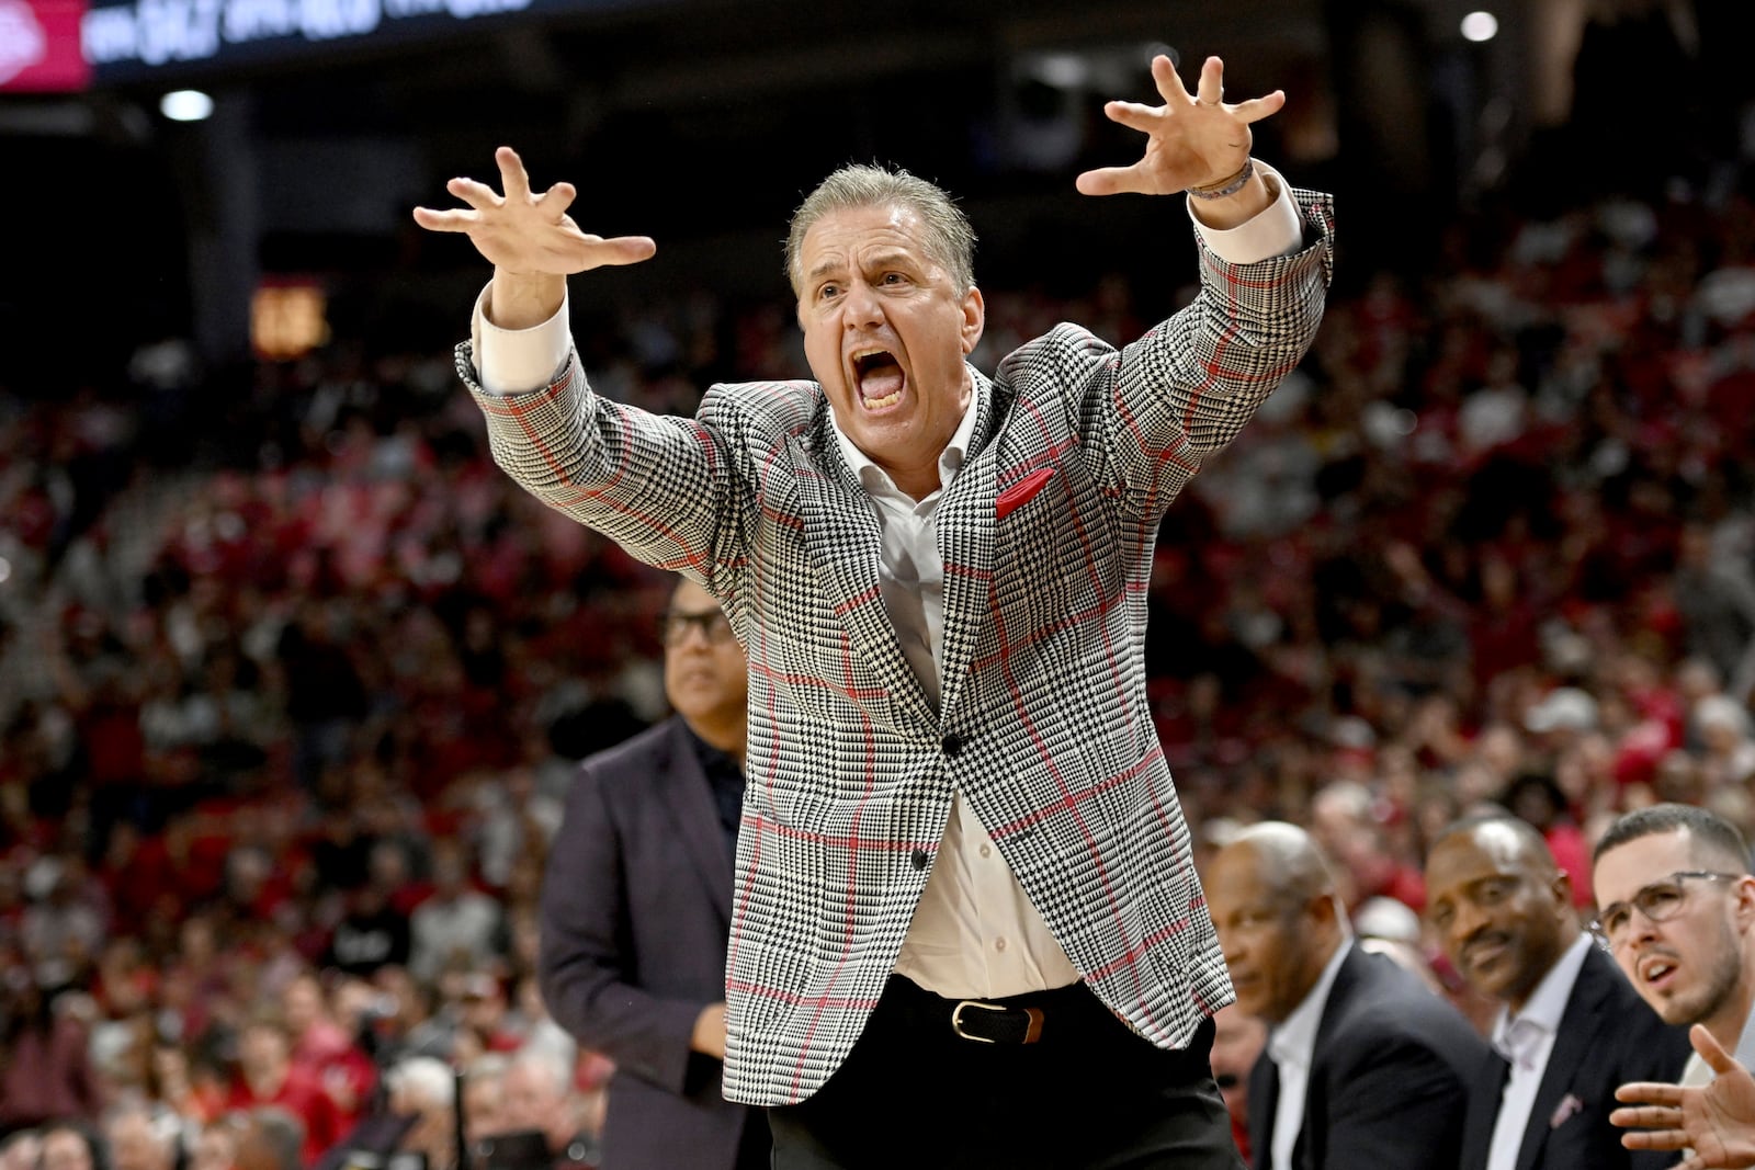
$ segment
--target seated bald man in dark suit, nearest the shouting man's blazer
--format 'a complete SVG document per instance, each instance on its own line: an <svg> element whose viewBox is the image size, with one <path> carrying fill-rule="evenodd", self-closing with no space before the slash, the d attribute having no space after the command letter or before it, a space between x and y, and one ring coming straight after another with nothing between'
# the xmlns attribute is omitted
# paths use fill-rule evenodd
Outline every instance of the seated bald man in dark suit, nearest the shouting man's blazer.
<svg viewBox="0 0 1755 1170"><path fill-rule="evenodd" d="M1251 826L1204 884L1237 1007L1272 1028L1250 1070L1257 1170L1453 1170L1488 1049L1416 975L1353 945L1309 833Z"/></svg>

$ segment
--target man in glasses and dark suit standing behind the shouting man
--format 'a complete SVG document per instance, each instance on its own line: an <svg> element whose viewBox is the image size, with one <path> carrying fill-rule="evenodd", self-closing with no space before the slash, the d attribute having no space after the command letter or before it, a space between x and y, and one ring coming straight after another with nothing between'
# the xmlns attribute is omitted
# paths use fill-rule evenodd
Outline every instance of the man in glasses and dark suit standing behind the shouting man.
<svg viewBox="0 0 1755 1170"><path fill-rule="evenodd" d="M767 1121L725 1100L721 1065L748 661L691 581L662 631L677 714L579 768L542 884L542 995L616 1061L605 1166L755 1170Z"/></svg>

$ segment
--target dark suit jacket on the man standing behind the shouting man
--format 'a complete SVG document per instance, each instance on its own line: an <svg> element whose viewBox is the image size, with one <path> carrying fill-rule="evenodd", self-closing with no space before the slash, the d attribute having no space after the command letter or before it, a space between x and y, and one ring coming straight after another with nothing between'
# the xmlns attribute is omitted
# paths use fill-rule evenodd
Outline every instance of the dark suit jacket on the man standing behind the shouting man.
<svg viewBox="0 0 1755 1170"><path fill-rule="evenodd" d="M604 1165L732 1170L744 1126L723 1068L690 1052L725 998L732 853L681 719L579 768L542 882L542 995L579 1044L616 1061Z"/></svg>

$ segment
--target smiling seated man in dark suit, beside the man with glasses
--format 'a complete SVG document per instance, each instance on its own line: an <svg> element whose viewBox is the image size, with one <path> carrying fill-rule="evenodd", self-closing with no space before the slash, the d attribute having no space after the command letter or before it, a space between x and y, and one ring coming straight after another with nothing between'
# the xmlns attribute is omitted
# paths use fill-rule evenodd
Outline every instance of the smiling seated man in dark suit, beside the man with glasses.
<svg viewBox="0 0 1755 1170"><path fill-rule="evenodd" d="M1469 1086L1462 1170L1658 1170L1609 1123L1627 1081L1674 1081L1688 1040L1632 989L1572 912L1571 877L1530 824L1492 814L1427 856L1427 916L1469 986L1501 1003Z"/></svg>

